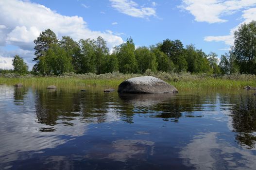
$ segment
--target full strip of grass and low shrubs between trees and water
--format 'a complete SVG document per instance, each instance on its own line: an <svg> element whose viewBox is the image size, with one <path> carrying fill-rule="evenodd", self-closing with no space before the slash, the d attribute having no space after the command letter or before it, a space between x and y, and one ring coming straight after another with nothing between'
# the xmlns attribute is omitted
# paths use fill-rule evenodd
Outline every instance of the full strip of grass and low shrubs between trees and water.
<svg viewBox="0 0 256 170"><path fill-rule="evenodd" d="M190 73L165 73L148 71L144 75L152 75L163 79L174 85L178 90L202 90L202 89L240 89L245 85L256 86L256 76L246 74L233 75L206 75ZM112 87L118 88L118 85L132 77L143 76L138 74L108 73L96 75L66 73L62 76L35 77L32 75L0 75L0 84L14 85L22 83L25 86L34 88L46 88L48 85L56 85L59 88L86 88Z"/></svg>

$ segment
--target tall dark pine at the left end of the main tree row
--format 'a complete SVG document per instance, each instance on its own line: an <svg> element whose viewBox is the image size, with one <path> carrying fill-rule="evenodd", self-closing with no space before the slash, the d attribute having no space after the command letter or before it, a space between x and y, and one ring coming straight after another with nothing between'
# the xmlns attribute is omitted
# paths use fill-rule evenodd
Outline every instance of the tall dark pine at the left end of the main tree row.
<svg viewBox="0 0 256 170"><path fill-rule="evenodd" d="M42 57L48 49L51 48L52 45L57 44L58 40L56 34L52 32L50 29L45 30L40 33L37 39L34 40L34 61L37 63L34 65L33 70L38 71L37 64L40 57Z"/></svg>

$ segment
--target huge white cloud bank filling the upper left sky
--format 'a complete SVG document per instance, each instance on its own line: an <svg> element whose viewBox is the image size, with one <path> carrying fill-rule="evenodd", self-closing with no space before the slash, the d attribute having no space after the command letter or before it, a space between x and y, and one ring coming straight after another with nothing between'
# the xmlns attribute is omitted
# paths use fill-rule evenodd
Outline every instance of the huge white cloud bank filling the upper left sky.
<svg viewBox="0 0 256 170"><path fill-rule="evenodd" d="M0 11L0 46L10 44L18 46L22 50L33 51L34 39L38 37L40 32L48 28L58 38L63 35L69 35L76 41L81 38L96 39L98 36L102 36L107 41L110 49L123 43L120 36L110 32L90 30L83 17L63 16L37 3L20 0L0 0ZM16 54L26 57L20 53ZM28 56L31 57L30 55ZM33 57L27 58L29 62L32 60Z"/></svg>

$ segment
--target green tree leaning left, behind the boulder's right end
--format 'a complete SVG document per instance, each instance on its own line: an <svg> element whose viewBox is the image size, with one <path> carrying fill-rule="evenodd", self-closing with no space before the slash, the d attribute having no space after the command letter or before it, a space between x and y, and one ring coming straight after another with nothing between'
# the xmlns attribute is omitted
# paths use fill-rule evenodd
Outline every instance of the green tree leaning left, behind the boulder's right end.
<svg viewBox="0 0 256 170"><path fill-rule="evenodd" d="M171 72L174 69L174 64L168 56L158 48L152 50L156 57L156 66L158 71Z"/></svg>

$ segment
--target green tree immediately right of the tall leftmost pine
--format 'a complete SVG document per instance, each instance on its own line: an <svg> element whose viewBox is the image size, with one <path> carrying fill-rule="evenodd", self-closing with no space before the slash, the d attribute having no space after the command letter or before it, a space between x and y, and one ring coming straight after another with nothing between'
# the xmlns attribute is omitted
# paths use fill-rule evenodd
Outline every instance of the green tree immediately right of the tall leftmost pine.
<svg viewBox="0 0 256 170"><path fill-rule="evenodd" d="M65 49L68 57L72 58L72 65L76 73L81 72L81 54L80 47L70 36L63 36L59 46Z"/></svg>

